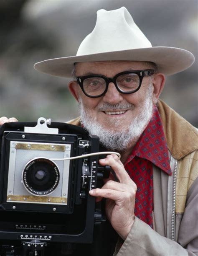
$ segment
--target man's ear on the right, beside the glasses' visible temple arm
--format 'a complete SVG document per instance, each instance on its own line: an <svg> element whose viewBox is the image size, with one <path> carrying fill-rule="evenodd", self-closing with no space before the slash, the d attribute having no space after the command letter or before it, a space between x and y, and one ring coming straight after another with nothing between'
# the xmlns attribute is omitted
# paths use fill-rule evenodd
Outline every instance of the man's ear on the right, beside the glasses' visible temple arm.
<svg viewBox="0 0 198 256"><path fill-rule="evenodd" d="M162 73L156 73L154 74L154 77L152 79L152 85L153 85L153 103L156 104L160 94L164 88L165 85L165 75Z"/></svg>

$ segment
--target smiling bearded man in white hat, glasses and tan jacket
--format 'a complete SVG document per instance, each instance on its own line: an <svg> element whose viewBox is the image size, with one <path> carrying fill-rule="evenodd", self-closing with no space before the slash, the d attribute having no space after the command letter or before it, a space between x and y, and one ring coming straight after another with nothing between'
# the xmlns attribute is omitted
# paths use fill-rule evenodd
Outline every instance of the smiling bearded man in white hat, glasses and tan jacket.
<svg viewBox="0 0 198 256"><path fill-rule="evenodd" d="M99 161L117 181L110 176L90 191L97 202L107 198L107 217L120 236L114 255L198 255L197 130L159 100L165 75L187 69L193 54L152 47L124 7L97 15L76 56L35 68L72 73L69 90L81 116L70 123L121 153L121 160L112 154Z"/></svg>

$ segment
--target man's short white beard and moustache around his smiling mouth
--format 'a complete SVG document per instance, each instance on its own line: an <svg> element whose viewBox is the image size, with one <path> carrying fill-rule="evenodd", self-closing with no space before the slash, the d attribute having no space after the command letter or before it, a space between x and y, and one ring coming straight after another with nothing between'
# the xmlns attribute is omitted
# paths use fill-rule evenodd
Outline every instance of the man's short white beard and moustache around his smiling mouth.
<svg viewBox="0 0 198 256"><path fill-rule="evenodd" d="M102 125L97 122L96 117L91 117L91 110L84 108L81 98L79 98L79 106L81 113L81 124L83 124L84 128L90 134L97 135L102 145L104 145L107 149L122 152L129 145L135 145L152 117L152 86L149 86L147 90L145 102L142 105L140 113L132 119L129 127L123 126L122 130L114 131L111 129L104 129L104 127L102 127ZM116 105L103 103L99 109L102 109L103 111L105 109L121 110L128 107L134 108L134 105L130 103L118 103ZM119 120L112 120L112 123L115 127L120 124Z"/></svg>

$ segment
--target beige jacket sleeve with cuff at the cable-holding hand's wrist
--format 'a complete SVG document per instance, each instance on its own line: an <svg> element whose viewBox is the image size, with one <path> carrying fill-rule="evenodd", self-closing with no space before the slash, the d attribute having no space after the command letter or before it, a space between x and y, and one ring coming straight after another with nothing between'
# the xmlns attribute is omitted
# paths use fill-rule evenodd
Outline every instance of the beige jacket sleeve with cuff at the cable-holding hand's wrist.
<svg viewBox="0 0 198 256"><path fill-rule="evenodd" d="M198 255L198 178L188 191L178 243L163 237L135 217L134 225L114 256L195 256Z"/></svg>

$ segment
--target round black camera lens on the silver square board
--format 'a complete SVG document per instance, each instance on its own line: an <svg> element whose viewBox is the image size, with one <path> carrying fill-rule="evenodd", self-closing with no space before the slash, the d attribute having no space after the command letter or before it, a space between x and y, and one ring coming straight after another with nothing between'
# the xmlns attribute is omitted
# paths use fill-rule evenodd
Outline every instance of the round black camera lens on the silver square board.
<svg viewBox="0 0 198 256"><path fill-rule="evenodd" d="M30 160L22 173L25 189L36 196L51 194L58 186L59 179L58 166L48 158Z"/></svg>

